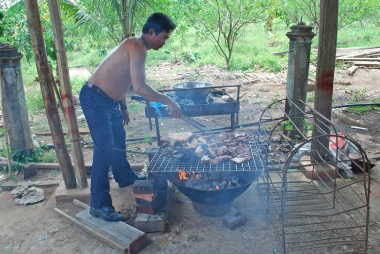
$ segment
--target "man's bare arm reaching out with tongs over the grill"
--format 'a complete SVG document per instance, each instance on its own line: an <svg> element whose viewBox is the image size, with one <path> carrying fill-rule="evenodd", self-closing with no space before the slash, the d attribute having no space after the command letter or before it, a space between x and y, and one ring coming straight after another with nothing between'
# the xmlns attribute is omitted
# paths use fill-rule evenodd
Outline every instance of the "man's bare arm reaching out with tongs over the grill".
<svg viewBox="0 0 380 254"><path fill-rule="evenodd" d="M168 105L172 116L181 117L181 108L175 101L157 92L154 88L145 83L146 50L137 43L132 45L131 49L129 52L129 62L133 91L149 101L156 101Z"/></svg>

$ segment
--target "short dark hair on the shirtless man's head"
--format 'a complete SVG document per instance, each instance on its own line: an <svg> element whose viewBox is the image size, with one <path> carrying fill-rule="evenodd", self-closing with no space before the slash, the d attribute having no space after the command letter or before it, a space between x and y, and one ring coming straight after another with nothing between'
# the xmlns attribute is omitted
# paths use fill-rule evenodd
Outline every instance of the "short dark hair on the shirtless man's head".
<svg viewBox="0 0 380 254"><path fill-rule="evenodd" d="M168 15L156 12L149 16L144 26L142 27L142 33L146 34L150 28L155 30L155 34L159 34L162 31L170 33L175 29L174 22L168 17Z"/></svg>

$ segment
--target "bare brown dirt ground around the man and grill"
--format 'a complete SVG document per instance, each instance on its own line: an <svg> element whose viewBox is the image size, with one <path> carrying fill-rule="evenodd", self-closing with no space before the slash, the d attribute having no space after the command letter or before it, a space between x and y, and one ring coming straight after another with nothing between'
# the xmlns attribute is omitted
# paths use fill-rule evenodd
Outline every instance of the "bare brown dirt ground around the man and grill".
<svg viewBox="0 0 380 254"><path fill-rule="evenodd" d="M169 89L168 84L181 80L212 81L215 85L244 84L240 96L240 122L249 123L259 119L261 111L275 98L285 97L286 75L265 75L262 72L252 75L230 73L210 67L200 69L198 72L166 64L149 69L148 80L154 87ZM162 73L168 73L163 75ZM173 74L170 74L173 73ZM178 74L179 73L179 74ZM198 73L198 74L197 74ZM249 73L248 73L249 74ZM367 90L365 100L359 102L380 101L379 90L380 69L358 69L353 76L347 76L345 71L336 71L334 89L334 105L347 104L355 101L348 93L349 87L339 83L351 82L351 90ZM227 90L236 96L236 90ZM309 96L311 94L309 93ZM314 102L310 102L314 105ZM127 137L155 136L150 131L148 120L144 115L144 105L135 101L128 101L132 122L126 128ZM82 111L77 105L77 116ZM379 148L380 132L378 129L380 112L372 110L368 113L353 114L345 112L348 116L366 123L367 131L350 129L350 125L341 123L333 118L340 128L357 140L368 153ZM196 117L197 121L208 126L218 128L229 126L230 116L203 116ZM49 131L46 116L30 116L32 133ZM178 119L160 120L161 135L170 131L194 131L192 126ZM79 121L80 128L86 128L84 120ZM249 131L253 128L243 128ZM90 141L88 135L82 136ZM37 136L38 141L45 144L52 143L50 136ZM152 140L153 146L156 145ZM144 142L128 142L128 149L145 151L150 145ZM92 160L92 148L84 148L87 162ZM144 162L143 155L128 154L131 163ZM17 180L21 181L20 173ZM39 171L39 175L30 179L59 180L62 176L59 171ZM56 205L55 188L45 188L46 199L40 203L26 206L17 205L10 192L0 192L0 253L119 253L106 244L100 242L81 229L73 226L67 220L60 218L53 212L58 207L65 213L75 216L81 208L73 204ZM134 200L131 188L119 189L116 183L111 183L111 196L116 207L127 216L127 223L133 226L135 214ZM380 249L380 186L372 182L370 196L370 231L368 253L378 253ZM192 207L191 201L180 192L175 193L168 218L167 230L163 233L148 234L150 244L140 253L273 253L275 249L280 252L280 246L274 234L273 227L266 208L260 197L257 184L237 198L233 203L234 211L241 211L248 216L248 223L235 231L230 231L222 225L222 217L206 217L198 214ZM307 252L305 252L307 253Z"/></svg>

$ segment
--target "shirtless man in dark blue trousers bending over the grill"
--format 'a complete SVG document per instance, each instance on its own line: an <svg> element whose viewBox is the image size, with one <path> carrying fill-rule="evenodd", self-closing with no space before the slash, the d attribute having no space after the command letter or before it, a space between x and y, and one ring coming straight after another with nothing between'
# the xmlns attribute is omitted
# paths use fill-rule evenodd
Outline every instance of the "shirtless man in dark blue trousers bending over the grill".
<svg viewBox="0 0 380 254"><path fill-rule="evenodd" d="M181 117L180 106L168 96L145 83L146 51L159 50L165 45L175 24L162 13L152 14L140 36L129 37L114 49L99 65L83 86L79 99L94 141L91 168L90 214L106 221L121 221L109 195L109 167L115 181L123 188L137 177L131 170L125 152L124 125L130 122L126 93L133 91L149 101L166 104L174 117ZM120 109L119 109L120 108Z"/></svg>

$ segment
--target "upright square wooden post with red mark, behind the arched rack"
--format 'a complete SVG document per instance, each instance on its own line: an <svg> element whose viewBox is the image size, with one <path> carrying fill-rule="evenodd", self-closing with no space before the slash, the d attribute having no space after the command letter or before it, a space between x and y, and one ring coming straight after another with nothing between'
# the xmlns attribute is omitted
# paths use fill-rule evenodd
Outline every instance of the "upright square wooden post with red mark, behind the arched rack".
<svg viewBox="0 0 380 254"><path fill-rule="evenodd" d="M334 86L336 39L338 30L338 0L321 0L319 17L319 41L318 41L318 61L315 86L314 108L327 119L331 119L332 92ZM316 116L319 127L330 133L327 126L329 124L321 117ZM326 124L327 126L325 126ZM315 129L313 137L324 133ZM320 142L318 143L317 140ZM328 156L329 140L326 138L316 139L312 143L312 157L321 161L317 151L326 159Z"/></svg>

